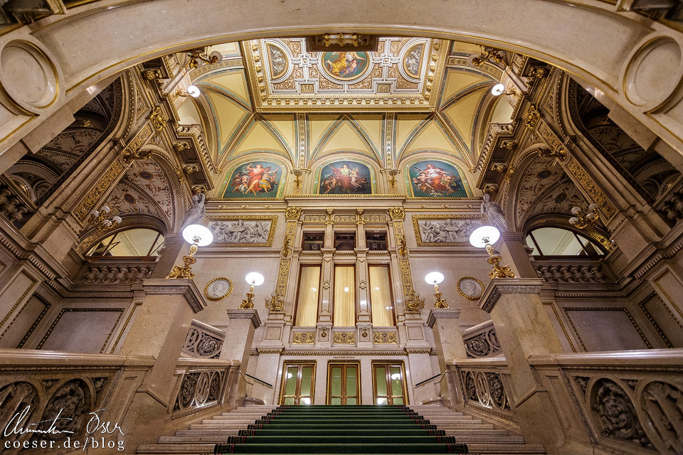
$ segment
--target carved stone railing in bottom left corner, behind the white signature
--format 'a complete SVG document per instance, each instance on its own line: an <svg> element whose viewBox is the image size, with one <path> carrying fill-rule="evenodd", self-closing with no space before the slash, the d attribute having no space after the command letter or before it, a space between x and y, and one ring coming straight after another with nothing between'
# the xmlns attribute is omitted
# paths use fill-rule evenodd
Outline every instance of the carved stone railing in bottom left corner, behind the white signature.
<svg viewBox="0 0 683 455"><path fill-rule="evenodd" d="M64 432L41 435L12 432L3 438L0 451L23 453L26 450L19 447L25 441L39 444L41 439L53 440L57 446L66 437L79 439L92 419L91 412L97 412L100 422L120 424L129 405L121 397L134 394L152 365L154 358L146 356L0 350L0 426L6 429L9 425L13 429L16 420L11 422L11 419L28 409L19 429L43 422L38 429L46 430L59 417L56 428ZM134 450L134 447L125 447L125 437L119 432L107 434L106 439L115 447ZM43 447L33 453L49 451Z"/></svg>

